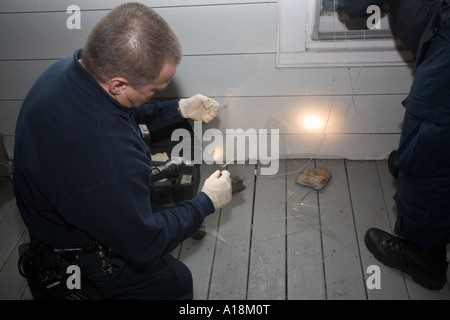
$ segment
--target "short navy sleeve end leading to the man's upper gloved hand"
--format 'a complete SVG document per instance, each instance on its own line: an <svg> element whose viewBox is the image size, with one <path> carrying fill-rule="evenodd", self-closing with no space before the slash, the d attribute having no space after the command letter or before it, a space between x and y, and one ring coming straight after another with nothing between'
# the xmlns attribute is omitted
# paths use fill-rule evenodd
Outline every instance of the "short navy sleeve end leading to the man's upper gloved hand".
<svg viewBox="0 0 450 320"><path fill-rule="evenodd" d="M143 104L135 110L134 117L136 123L145 123L150 131L183 120L178 110L178 100Z"/></svg>

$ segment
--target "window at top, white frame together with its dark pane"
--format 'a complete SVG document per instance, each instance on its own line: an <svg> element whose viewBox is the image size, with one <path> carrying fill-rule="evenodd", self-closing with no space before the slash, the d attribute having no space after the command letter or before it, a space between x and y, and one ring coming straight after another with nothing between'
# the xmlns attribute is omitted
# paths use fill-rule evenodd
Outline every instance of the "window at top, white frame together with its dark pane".
<svg viewBox="0 0 450 320"><path fill-rule="evenodd" d="M393 35L389 6L354 19L338 9L340 0L278 0L277 68L398 66L414 59ZM369 8L368 8L369 9ZM379 17L379 19L378 19Z"/></svg>

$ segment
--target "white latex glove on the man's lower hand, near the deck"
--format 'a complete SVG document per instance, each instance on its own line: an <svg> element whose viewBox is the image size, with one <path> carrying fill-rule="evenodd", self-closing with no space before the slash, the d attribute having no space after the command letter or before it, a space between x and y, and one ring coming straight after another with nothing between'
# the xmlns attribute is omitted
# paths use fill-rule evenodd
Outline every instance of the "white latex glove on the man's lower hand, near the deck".
<svg viewBox="0 0 450 320"><path fill-rule="evenodd" d="M231 179L227 170L217 170L203 184L202 192L211 199L214 208L220 209L231 201Z"/></svg>

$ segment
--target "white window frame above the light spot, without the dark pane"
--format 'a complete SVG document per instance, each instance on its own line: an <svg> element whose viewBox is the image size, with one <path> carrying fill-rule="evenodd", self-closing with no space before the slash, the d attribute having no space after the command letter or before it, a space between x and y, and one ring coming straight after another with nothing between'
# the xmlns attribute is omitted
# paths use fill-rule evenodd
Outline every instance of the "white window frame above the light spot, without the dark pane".
<svg viewBox="0 0 450 320"><path fill-rule="evenodd" d="M314 40L321 0L278 0L277 68L404 66L412 55L389 39Z"/></svg>

